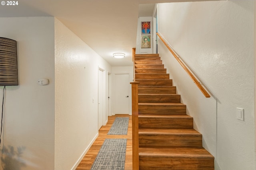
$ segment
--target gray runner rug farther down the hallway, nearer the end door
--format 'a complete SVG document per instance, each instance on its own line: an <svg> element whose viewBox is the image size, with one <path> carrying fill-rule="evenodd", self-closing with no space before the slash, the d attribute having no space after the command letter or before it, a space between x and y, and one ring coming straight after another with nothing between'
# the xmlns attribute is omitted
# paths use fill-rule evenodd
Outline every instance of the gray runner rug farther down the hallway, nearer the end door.
<svg viewBox="0 0 256 170"><path fill-rule="evenodd" d="M116 117L108 135L127 135L129 117Z"/></svg>

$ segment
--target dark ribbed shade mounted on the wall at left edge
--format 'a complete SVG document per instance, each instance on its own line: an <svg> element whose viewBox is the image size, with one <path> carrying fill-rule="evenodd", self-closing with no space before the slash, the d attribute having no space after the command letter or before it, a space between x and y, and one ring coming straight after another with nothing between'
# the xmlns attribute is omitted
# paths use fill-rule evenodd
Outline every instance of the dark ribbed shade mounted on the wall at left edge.
<svg viewBox="0 0 256 170"><path fill-rule="evenodd" d="M0 37L0 86L18 85L17 43Z"/></svg>

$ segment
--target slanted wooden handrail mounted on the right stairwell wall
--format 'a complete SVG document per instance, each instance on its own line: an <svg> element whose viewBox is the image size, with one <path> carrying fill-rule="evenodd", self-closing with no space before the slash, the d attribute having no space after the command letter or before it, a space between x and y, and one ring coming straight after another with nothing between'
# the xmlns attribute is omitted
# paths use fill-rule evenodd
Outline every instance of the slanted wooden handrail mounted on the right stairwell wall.
<svg viewBox="0 0 256 170"><path fill-rule="evenodd" d="M184 68L184 70L188 73L188 75L190 76L190 78L194 81L194 83L196 84L196 86L201 90L201 92L204 94L204 96L206 98L210 98L211 96L208 94L208 92L204 89L204 87L200 84L200 82L198 82L198 80L196 79L196 77L190 72L190 70L188 70L188 68L186 67L186 65L180 60L180 58L176 55L176 53L174 53L174 51L171 49L171 47L166 43L166 41L164 41L163 37L159 34L156 33L158 35L158 37L162 40L162 42L164 43L164 45L166 45L166 47L169 49L169 51L172 53L172 55L175 57L175 59L180 63L180 65Z"/></svg>

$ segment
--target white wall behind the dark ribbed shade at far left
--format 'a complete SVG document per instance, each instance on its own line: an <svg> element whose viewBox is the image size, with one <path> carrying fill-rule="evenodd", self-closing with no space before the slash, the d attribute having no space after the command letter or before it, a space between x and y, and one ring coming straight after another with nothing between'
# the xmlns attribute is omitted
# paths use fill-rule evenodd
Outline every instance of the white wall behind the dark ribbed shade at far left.
<svg viewBox="0 0 256 170"><path fill-rule="evenodd" d="M4 170L52 170L54 18L0 18L0 28L0 37L17 41L19 77L18 86L6 86L1 164ZM49 84L38 85L39 78Z"/></svg>

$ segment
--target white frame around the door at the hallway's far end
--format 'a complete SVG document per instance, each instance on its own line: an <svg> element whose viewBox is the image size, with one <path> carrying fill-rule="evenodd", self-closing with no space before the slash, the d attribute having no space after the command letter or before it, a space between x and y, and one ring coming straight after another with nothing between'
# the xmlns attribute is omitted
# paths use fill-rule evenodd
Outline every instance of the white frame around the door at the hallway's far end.
<svg viewBox="0 0 256 170"><path fill-rule="evenodd" d="M115 75L120 75L120 74L128 74L129 78L129 82L130 82L130 78L131 78L131 75L130 75L130 72L122 72L122 73L113 73L113 76L112 76L112 79L113 79L113 84L112 84L112 87L113 87L113 100L112 100L112 110L113 110L113 114L112 115L115 115L116 114L116 111L115 111L115 93L116 93L116 87L115 87ZM130 87L130 85L129 85ZM131 101L132 100L132 94L131 94L131 88L129 88L129 104L128 104L128 107L129 107L129 115L132 115L132 112L131 112Z"/></svg>

